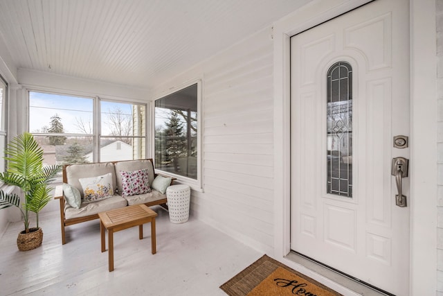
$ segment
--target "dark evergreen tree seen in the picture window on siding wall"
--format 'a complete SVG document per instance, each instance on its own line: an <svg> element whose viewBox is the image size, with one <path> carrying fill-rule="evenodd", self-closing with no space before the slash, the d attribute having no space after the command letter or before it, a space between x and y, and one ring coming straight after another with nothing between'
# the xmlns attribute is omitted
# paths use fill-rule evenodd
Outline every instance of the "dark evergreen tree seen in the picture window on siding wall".
<svg viewBox="0 0 443 296"><path fill-rule="evenodd" d="M175 110L172 110L169 121L165 123L163 130L163 139L165 139L164 160L174 164L174 170L177 171L177 159L186 156L186 137L183 134L183 123Z"/></svg>

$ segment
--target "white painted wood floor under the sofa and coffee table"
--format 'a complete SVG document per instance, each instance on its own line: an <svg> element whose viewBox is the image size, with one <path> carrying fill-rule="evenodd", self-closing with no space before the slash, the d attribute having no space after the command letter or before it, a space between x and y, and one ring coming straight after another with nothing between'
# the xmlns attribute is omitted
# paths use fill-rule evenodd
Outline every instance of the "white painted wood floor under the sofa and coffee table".
<svg viewBox="0 0 443 296"><path fill-rule="evenodd" d="M168 212L152 209L157 253L149 224L143 240L138 227L116 232L113 272L98 220L67 227L62 245L59 213L41 215L43 244L28 252L16 244L23 223L10 223L0 239L0 295L226 295L219 286L262 256L192 216L172 224Z"/></svg>

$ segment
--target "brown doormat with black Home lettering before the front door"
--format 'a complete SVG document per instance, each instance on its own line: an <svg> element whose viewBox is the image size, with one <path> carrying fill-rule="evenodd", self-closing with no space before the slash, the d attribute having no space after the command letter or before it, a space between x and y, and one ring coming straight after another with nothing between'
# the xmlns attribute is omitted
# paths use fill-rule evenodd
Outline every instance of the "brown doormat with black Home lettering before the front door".
<svg viewBox="0 0 443 296"><path fill-rule="evenodd" d="M220 288L230 296L341 295L266 255Z"/></svg>

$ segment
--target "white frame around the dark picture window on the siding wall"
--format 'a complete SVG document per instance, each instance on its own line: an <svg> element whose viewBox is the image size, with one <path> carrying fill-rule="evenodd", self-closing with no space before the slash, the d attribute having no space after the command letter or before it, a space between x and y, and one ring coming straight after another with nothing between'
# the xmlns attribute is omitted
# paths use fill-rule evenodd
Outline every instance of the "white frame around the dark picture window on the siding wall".
<svg viewBox="0 0 443 296"><path fill-rule="evenodd" d="M162 171L159 168L156 168L156 173L161 173L162 175L168 175L171 177L174 177L177 179L177 183L180 184L187 184L191 187L192 190L204 192L203 187L203 103L202 103L202 96L203 96L203 80L201 78L197 78L195 80L189 80L186 83L183 83L182 85L179 85L178 87L173 87L168 90L168 92L165 92L159 96L156 96L151 104L150 104L150 115L151 115L151 121L150 121L150 134L151 134L151 158L154 160L154 167L155 167L155 102L161 98L164 98L165 96L169 96L170 94L174 94L176 92L179 92L183 89L186 89L187 87L190 87L192 85L197 85L197 179L192 179L190 177L185 177L182 175L177 175L174 173L171 173L169 171Z"/></svg>

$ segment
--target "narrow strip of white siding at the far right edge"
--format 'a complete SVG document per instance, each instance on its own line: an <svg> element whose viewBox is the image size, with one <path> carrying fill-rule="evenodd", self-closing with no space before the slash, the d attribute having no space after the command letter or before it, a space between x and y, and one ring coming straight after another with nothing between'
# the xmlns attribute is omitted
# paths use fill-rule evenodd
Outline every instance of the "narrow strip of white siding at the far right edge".
<svg viewBox="0 0 443 296"><path fill-rule="evenodd" d="M436 2L437 24L437 295L443 295L443 0Z"/></svg>

